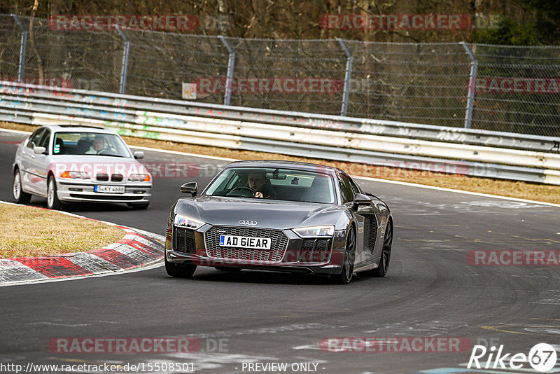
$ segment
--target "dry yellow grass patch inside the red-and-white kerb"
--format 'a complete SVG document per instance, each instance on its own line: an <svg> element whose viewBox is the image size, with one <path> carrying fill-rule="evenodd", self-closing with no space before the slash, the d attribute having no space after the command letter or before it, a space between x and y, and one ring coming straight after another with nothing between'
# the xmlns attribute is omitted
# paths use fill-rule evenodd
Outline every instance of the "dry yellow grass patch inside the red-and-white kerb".
<svg viewBox="0 0 560 374"><path fill-rule="evenodd" d="M125 230L47 209L0 204L0 258L36 257L105 247Z"/></svg>

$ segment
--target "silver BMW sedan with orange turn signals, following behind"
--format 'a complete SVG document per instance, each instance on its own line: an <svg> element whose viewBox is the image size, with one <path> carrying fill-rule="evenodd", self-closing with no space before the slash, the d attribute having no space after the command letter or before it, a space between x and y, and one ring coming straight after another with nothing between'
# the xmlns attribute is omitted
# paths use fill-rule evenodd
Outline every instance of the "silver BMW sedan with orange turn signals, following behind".
<svg viewBox="0 0 560 374"><path fill-rule="evenodd" d="M133 209L150 203L152 177L116 133L102 127L46 125L15 151L13 198L47 198L49 209L64 202L125 202Z"/></svg>

